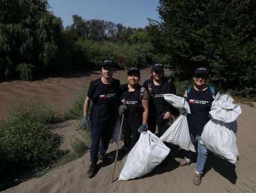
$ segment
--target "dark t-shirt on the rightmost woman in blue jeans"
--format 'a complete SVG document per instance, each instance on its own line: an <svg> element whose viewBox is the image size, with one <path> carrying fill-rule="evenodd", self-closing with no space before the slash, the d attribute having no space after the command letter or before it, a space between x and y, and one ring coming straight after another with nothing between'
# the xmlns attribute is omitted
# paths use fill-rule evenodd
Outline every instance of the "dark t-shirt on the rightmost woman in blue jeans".
<svg viewBox="0 0 256 193"><path fill-rule="evenodd" d="M215 96L219 92L216 88ZM187 95L187 96L186 96ZM210 89L203 91L194 90L194 87L190 89L187 94L187 102L190 105L191 114L188 114L188 128L190 132L194 134L199 134L203 132L203 127L210 120L209 112L212 106L212 101L214 101Z"/></svg>

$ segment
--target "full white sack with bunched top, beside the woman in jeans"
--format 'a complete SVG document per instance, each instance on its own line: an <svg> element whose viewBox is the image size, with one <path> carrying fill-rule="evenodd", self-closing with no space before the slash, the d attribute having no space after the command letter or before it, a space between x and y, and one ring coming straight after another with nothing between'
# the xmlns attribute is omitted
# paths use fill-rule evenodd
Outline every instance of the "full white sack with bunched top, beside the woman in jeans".
<svg viewBox="0 0 256 193"><path fill-rule="evenodd" d="M239 105L233 103L230 94L221 94L212 102L210 116L212 119L206 123L201 134L205 148L235 163L239 153L236 145L237 116L241 114Z"/></svg>

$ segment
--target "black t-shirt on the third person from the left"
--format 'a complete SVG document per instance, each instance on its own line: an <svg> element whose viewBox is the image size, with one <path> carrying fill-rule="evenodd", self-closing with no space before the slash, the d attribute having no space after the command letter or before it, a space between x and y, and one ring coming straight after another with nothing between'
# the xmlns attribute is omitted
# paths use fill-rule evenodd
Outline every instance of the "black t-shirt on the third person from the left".
<svg viewBox="0 0 256 193"><path fill-rule="evenodd" d="M148 79L143 83L143 87L148 91L148 84L151 84L153 96L149 97L149 122L150 120L163 119L163 114L167 111L173 112L174 108L170 103L165 101L163 94L176 94L175 85L164 79L161 85L154 85L152 79Z"/></svg>

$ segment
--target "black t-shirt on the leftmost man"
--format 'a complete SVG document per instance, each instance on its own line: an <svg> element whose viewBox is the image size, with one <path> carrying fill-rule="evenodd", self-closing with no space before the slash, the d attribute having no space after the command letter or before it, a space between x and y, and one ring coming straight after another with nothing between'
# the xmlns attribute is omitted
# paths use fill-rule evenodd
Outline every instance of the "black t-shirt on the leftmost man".
<svg viewBox="0 0 256 193"><path fill-rule="evenodd" d="M101 79L91 81L87 96L92 99L91 124L113 124L118 116L120 81L113 79L111 84L102 83Z"/></svg>

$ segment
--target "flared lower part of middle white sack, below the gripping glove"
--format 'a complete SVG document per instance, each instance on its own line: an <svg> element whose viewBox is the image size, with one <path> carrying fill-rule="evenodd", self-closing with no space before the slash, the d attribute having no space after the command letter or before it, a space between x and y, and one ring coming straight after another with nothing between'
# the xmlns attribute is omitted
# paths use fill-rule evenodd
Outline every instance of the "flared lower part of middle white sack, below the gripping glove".
<svg viewBox="0 0 256 193"><path fill-rule="evenodd" d="M190 138L190 131L188 130L187 116L181 115L172 123L170 128L160 137L162 141L179 145L187 151L196 152L194 145Z"/></svg>

